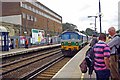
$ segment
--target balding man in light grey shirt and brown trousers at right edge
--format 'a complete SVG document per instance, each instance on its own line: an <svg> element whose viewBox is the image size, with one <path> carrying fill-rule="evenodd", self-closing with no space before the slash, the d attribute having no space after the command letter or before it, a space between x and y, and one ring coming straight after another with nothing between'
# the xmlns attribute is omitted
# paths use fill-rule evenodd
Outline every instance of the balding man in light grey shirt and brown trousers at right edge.
<svg viewBox="0 0 120 80"><path fill-rule="evenodd" d="M111 78L115 80L120 80L119 78L120 74L118 72L118 65L120 63L117 62L119 56L116 55L117 54L116 47L120 46L120 37L117 36L118 34L116 33L114 27L110 27L108 29L108 33L111 36L111 40L108 42L108 45L110 46L111 49L111 55L110 55Z"/></svg>

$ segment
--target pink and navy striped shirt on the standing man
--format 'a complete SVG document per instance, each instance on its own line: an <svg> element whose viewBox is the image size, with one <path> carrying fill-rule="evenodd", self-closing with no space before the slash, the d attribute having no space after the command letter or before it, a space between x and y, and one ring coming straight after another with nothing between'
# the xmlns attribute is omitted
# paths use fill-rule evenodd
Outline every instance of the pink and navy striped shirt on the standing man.
<svg viewBox="0 0 120 80"><path fill-rule="evenodd" d="M105 70L106 65L104 61L104 57L110 57L110 48L105 42L99 41L94 46L94 69L95 70Z"/></svg>

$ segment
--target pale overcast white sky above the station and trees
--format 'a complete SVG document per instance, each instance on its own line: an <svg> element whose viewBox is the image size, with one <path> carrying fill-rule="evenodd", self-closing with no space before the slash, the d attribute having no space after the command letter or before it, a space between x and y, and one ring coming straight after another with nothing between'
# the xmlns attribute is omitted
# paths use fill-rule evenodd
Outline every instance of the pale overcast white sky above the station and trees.
<svg viewBox="0 0 120 80"><path fill-rule="evenodd" d="M98 16L99 0L38 0L60 16L62 23L72 23L80 31L94 29L95 18ZM118 29L118 2L120 0L100 0L102 12L102 32L108 32L113 26ZM92 23L92 25L90 25ZM97 31L100 32L99 17L96 19Z"/></svg>

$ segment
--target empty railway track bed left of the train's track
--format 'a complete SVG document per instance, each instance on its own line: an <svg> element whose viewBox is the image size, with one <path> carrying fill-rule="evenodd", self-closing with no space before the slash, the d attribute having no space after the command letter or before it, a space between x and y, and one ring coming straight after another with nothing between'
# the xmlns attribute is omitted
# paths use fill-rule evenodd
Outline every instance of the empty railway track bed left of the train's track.
<svg viewBox="0 0 120 80"><path fill-rule="evenodd" d="M28 79L43 68L63 58L61 50L49 50L34 56L0 65L0 77L3 79Z"/></svg>

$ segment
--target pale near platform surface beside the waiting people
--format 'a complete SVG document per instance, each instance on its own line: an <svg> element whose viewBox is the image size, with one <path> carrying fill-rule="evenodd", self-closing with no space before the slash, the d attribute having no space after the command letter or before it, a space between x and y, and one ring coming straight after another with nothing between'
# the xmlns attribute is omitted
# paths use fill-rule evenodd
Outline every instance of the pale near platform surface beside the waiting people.
<svg viewBox="0 0 120 80"><path fill-rule="evenodd" d="M76 80L80 80L82 78L89 78L88 73L83 74L79 68L79 64L85 58L85 52L88 50L89 45L85 46L82 50L80 50L64 67L62 67L58 73L53 76L52 80L56 79L66 79L72 80L73 78ZM95 78L95 74L93 73L92 78Z"/></svg>

